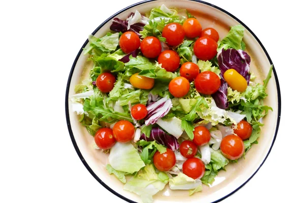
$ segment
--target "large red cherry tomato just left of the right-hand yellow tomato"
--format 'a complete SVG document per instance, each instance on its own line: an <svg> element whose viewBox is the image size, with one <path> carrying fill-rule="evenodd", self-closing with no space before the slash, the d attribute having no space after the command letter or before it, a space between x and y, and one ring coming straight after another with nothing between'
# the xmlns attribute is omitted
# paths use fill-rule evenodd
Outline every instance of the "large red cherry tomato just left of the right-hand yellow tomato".
<svg viewBox="0 0 305 203"><path fill-rule="evenodd" d="M195 88L201 94L211 95L217 92L220 87L220 78L216 73L204 71L195 79Z"/></svg>

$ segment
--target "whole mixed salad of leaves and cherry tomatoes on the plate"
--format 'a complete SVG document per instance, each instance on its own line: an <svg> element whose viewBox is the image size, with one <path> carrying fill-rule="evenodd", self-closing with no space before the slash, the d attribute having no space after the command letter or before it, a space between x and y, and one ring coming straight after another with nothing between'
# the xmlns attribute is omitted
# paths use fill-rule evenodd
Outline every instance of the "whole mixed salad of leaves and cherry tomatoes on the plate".
<svg viewBox="0 0 305 203"><path fill-rule="evenodd" d="M258 144L272 65L263 84L250 73L244 29L227 36L162 5L114 18L89 36L88 78L71 96L79 122L108 153L106 169L152 202L169 184L192 195ZM231 163L233 164L233 163Z"/></svg>

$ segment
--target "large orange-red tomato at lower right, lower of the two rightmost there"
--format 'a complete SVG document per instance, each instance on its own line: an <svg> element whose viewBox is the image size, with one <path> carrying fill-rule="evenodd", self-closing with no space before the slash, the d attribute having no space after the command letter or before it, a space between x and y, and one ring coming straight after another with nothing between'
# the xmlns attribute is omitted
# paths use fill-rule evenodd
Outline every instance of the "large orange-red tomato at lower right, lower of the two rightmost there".
<svg viewBox="0 0 305 203"><path fill-rule="evenodd" d="M220 150L226 158L235 160L242 156L245 145L243 145L241 138L230 134L222 139Z"/></svg>

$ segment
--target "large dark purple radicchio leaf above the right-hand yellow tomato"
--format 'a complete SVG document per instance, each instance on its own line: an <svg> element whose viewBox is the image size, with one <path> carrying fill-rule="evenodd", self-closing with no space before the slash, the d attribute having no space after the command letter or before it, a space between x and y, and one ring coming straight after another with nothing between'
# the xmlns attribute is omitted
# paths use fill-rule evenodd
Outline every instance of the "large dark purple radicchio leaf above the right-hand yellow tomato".
<svg viewBox="0 0 305 203"><path fill-rule="evenodd" d="M222 78L227 70L234 69L247 80L249 85L251 58L247 52L236 49L222 49L217 59Z"/></svg>

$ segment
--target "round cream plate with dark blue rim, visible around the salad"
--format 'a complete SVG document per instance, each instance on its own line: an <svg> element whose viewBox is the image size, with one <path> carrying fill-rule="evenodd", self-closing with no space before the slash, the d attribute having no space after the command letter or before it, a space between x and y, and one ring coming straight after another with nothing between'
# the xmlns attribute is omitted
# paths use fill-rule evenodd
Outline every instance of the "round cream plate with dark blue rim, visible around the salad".
<svg viewBox="0 0 305 203"><path fill-rule="evenodd" d="M267 76L272 61L259 39L254 33L227 11L201 1L144 1L131 5L103 22L93 33L95 37L102 37L109 31L111 21L117 17L126 19L131 12L138 10L141 13L161 6L171 8L188 9L201 22L203 28L214 27L218 30L220 38L224 38L230 27L241 24L245 27L245 36L243 41L246 43L246 52L251 56L250 72L257 76L257 82L262 82ZM83 44L69 75L66 91L66 117L67 125L72 143L81 161L94 178L101 183L110 192L128 202L139 202L140 197L134 193L123 190L123 184L113 175L109 175L105 165L108 163L106 154L94 149L94 138L78 122L78 115L72 111L69 102L69 96L75 94L74 87L79 84L92 67L92 63L87 62L88 55L83 55L82 50L88 46L88 41ZM272 112L263 119L265 124L262 127L261 136L258 145L253 145L246 154L246 159L238 160L238 163L231 163L226 166L226 171L220 171L215 178L215 182L210 186L203 185L203 191L188 195L188 191L170 190L168 186L154 196L154 202L218 202L230 196L243 185L245 185L259 170L266 160L270 150L275 143L281 114L281 94L276 70L273 69L272 77L267 86L268 97L265 99L265 105L273 108Z"/></svg>

